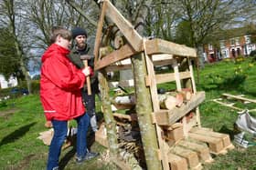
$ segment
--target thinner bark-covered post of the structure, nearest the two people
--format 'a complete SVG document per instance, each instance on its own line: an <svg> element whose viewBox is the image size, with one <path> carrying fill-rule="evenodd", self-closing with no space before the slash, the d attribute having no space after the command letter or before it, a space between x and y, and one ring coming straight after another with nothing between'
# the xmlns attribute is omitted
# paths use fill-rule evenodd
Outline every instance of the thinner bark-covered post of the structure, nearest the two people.
<svg viewBox="0 0 256 170"><path fill-rule="evenodd" d="M99 82L100 82L100 90L101 90L101 101L102 101L102 109L103 116L105 120L105 126L107 129L107 136L109 142L110 153L112 157L118 157L118 142L117 142L117 134L116 134L116 122L112 115L112 107L111 100L109 95L109 86L107 81L107 74L105 71L99 72Z"/></svg>

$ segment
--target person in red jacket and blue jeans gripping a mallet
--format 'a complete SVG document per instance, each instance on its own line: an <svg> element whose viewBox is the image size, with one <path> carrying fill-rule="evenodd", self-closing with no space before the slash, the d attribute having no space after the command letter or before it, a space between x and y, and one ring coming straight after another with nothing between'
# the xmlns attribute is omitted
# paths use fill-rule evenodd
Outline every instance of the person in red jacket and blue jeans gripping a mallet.
<svg viewBox="0 0 256 170"><path fill-rule="evenodd" d="M45 116L54 129L48 152L48 170L59 169L59 155L70 119L75 119L78 124L76 161L81 163L98 155L87 150L89 115L82 105L80 92L86 77L93 73L90 66L78 69L69 61L67 55L71 38L69 30L53 28L51 45L41 59L40 100Z"/></svg>

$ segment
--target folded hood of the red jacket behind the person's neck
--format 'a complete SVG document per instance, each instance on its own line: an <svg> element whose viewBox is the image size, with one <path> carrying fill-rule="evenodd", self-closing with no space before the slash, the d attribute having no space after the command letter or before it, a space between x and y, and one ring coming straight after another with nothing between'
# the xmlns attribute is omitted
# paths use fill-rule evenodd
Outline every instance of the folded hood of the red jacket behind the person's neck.
<svg viewBox="0 0 256 170"><path fill-rule="evenodd" d="M66 49L60 45L52 44L48 47L47 51L42 55L42 63L46 61L49 57L52 57L54 53L60 53L61 55L69 55L69 49Z"/></svg>

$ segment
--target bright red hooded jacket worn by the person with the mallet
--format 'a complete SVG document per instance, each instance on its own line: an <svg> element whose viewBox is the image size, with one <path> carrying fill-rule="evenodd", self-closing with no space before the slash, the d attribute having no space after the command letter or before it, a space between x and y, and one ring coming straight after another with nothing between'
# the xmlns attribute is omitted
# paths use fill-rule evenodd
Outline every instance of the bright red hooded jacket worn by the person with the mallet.
<svg viewBox="0 0 256 170"><path fill-rule="evenodd" d="M68 49L52 44L42 55L40 99L47 120L69 120L85 113L80 91L85 75L68 54Z"/></svg>

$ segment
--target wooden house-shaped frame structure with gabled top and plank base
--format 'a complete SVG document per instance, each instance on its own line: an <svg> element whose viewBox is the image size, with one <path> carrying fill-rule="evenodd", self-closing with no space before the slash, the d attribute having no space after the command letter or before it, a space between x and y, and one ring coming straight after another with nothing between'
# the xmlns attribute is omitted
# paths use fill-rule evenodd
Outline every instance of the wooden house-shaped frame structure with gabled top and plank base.
<svg viewBox="0 0 256 170"><path fill-rule="evenodd" d="M127 44L110 54L101 55L101 32L104 17L108 17L123 33ZM95 69L99 71L101 85L102 111L105 129L96 134L96 140L101 145L110 148L113 157L118 155L119 125L139 125L139 132L144 149L144 159L147 169L200 169L201 163L212 161L210 153L222 154L232 145L229 135L223 135L203 128L200 125L198 105L205 99L204 92L197 92L192 60L197 59L195 49L185 45L177 45L162 39L146 39L139 35L118 10L108 1L101 5L101 18L98 23L94 46ZM127 65L122 65L124 60ZM180 71L180 65L186 65ZM156 65L171 65L171 71L156 74ZM122 69L133 69L133 87L136 105L132 115L112 113L112 103L109 95L110 83L107 72L118 72ZM190 86L185 86L189 82ZM128 84L128 80L125 83ZM168 110L159 106L157 85L175 84L176 92L183 88L191 89L191 99L182 105ZM122 104L119 108L131 108ZM192 115L192 116L190 116ZM124 122L124 123L122 123ZM103 136L104 135L104 136ZM107 139L107 142L102 142ZM123 167L124 169L129 169ZM130 169L133 167L130 166Z"/></svg>

